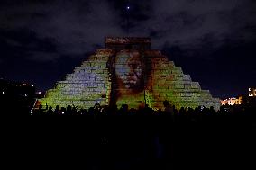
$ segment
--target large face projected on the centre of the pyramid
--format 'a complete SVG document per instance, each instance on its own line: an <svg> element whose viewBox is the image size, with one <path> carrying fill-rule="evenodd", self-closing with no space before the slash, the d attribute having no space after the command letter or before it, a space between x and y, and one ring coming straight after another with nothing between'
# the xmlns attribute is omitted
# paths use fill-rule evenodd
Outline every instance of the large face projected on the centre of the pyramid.
<svg viewBox="0 0 256 170"><path fill-rule="evenodd" d="M120 52L115 58L115 75L122 88L139 90L142 86L142 62L138 51Z"/></svg>

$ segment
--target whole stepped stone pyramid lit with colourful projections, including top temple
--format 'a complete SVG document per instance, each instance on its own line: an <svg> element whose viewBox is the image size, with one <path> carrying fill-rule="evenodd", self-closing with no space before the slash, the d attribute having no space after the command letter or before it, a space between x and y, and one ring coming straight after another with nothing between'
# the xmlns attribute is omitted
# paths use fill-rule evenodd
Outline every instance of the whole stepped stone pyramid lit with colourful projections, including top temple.
<svg viewBox="0 0 256 170"><path fill-rule="evenodd" d="M75 67L39 103L86 109L96 103L163 108L165 100L177 108L220 107L220 100L183 74L181 67L159 50L151 50L150 38L130 37L106 38L105 49L96 50L81 67Z"/></svg>

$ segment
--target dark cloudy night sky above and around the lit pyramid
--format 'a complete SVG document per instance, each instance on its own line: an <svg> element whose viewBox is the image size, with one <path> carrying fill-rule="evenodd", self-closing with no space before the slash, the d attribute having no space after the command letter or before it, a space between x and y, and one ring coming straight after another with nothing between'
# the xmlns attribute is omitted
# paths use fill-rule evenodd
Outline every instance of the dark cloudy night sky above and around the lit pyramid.
<svg viewBox="0 0 256 170"><path fill-rule="evenodd" d="M129 36L151 37L213 96L256 86L255 0L3 0L0 76L52 88L106 36L127 36L127 13Z"/></svg>

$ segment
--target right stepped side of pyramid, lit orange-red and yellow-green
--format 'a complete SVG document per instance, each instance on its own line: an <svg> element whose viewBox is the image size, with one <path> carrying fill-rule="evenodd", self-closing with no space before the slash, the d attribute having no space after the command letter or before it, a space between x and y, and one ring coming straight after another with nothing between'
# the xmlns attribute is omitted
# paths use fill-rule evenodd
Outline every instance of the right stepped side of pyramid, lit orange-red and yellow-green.
<svg viewBox="0 0 256 170"><path fill-rule="evenodd" d="M198 82L183 74L181 67L175 67L173 61L162 55L159 50L145 53L145 69L148 77L146 103L151 107L163 108L163 101L173 103L177 108L213 106L220 108L220 100L213 98L208 90L202 90Z"/></svg>

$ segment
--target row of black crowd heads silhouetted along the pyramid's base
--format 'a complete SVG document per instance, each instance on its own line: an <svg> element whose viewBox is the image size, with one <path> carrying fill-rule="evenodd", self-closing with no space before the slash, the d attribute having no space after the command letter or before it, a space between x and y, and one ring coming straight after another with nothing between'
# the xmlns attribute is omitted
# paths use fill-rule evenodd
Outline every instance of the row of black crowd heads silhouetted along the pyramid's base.
<svg viewBox="0 0 256 170"><path fill-rule="evenodd" d="M94 107L89 109L78 108L75 105L68 105L67 107L60 107L57 105L55 108L48 106L43 109L42 105L39 108L33 109L31 115L88 115L88 116L170 116L172 119L178 120L178 117L187 117L190 121L195 121L204 116L214 115L250 115L254 116L256 107L244 107L242 105L233 106L221 106L219 111L215 111L214 107L206 108L204 106L198 106L195 109L190 107L181 107L179 110L168 101L163 102L164 110L160 108L153 110L149 105L140 107L138 109L131 108L127 104L123 104L119 109L114 106L101 106L96 103Z"/></svg>

